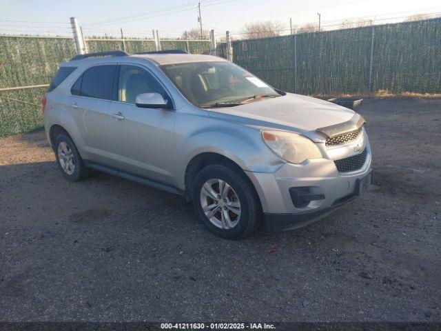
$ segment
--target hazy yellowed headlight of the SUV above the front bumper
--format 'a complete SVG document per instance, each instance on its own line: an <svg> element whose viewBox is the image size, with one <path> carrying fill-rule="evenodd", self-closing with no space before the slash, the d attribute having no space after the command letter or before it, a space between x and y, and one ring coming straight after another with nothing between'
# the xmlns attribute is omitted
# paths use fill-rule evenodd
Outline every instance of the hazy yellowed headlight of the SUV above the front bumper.
<svg viewBox="0 0 441 331"><path fill-rule="evenodd" d="M309 138L293 132L263 130L263 141L282 159L302 163L307 159L320 159L322 153Z"/></svg>

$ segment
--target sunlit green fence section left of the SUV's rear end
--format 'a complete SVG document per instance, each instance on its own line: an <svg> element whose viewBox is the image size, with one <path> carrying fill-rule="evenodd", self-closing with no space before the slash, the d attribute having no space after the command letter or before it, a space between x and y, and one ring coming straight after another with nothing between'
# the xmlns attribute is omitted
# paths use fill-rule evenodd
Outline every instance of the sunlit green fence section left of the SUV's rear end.
<svg viewBox="0 0 441 331"><path fill-rule="evenodd" d="M0 137L43 125L40 99L75 54L71 38L0 37Z"/></svg>

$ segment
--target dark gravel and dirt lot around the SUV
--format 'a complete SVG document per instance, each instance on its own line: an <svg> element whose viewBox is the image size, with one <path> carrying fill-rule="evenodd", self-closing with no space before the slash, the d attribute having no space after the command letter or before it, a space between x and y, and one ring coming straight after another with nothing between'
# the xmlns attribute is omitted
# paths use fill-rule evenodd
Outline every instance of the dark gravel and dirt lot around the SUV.
<svg viewBox="0 0 441 331"><path fill-rule="evenodd" d="M0 139L0 320L441 321L441 100L359 112L369 192L243 241L173 194L101 173L68 183L43 132Z"/></svg>

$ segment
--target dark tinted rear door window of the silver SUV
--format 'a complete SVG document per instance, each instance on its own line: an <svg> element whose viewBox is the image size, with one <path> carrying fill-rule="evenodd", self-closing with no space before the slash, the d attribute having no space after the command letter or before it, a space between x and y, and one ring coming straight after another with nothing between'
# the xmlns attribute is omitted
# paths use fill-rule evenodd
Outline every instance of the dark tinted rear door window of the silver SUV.
<svg viewBox="0 0 441 331"><path fill-rule="evenodd" d="M116 65L96 66L85 70L81 79L80 95L83 97L112 100L115 71Z"/></svg>

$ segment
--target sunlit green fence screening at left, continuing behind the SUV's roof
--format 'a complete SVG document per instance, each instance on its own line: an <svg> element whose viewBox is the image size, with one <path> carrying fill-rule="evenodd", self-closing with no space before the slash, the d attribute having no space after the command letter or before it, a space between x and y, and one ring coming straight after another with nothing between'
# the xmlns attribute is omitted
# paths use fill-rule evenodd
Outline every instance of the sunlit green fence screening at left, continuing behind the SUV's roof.
<svg viewBox="0 0 441 331"><path fill-rule="evenodd" d="M85 39L88 52L155 50L154 41ZM163 50L180 49L209 54L209 41L161 40ZM59 63L74 57L72 38L0 36L0 137L30 132L43 125L40 99ZM29 87L10 90L15 87ZM37 86L37 87L35 87Z"/></svg>

